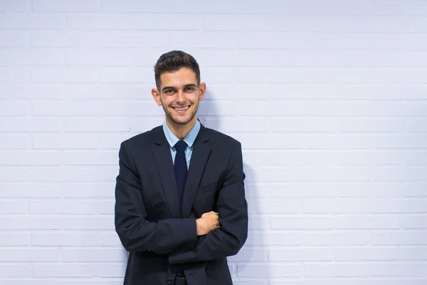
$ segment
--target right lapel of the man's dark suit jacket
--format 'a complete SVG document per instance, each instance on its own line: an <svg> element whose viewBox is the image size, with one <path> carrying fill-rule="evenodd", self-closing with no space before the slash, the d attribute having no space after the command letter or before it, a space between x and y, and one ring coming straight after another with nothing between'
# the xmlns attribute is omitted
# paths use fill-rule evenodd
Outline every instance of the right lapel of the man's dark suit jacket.
<svg viewBox="0 0 427 285"><path fill-rule="evenodd" d="M193 206L194 197L204 172L206 162L211 153L211 145L206 128L200 126L199 134L194 141L193 153L191 154L189 172L187 173L184 199L181 207L181 217L189 217L191 207Z"/></svg>

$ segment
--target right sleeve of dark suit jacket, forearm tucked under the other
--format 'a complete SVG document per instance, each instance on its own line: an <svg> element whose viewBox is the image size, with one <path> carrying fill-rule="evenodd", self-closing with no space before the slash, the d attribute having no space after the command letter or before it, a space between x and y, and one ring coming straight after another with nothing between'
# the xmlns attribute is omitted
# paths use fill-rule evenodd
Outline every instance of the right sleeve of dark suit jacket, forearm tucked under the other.
<svg viewBox="0 0 427 285"><path fill-rule="evenodd" d="M218 193L220 227L200 237L193 249L181 247L169 254L169 264L209 261L237 254L248 237L248 204L241 144L238 142L228 162L228 170Z"/></svg>

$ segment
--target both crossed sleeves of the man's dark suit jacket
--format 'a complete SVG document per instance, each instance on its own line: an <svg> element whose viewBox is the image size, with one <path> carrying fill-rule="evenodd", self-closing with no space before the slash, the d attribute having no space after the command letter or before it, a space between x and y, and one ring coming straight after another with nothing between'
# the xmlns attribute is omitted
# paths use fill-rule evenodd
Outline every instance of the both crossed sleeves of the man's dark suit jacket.
<svg viewBox="0 0 427 285"><path fill-rule="evenodd" d="M169 254L169 264L209 261L228 257L243 247L248 234L241 144L236 143L223 185L218 190L219 227L200 234L204 221L194 218L162 219L151 222L140 194L140 182L132 157L122 143L120 172L115 187L115 229L128 252ZM199 225L199 230L198 226ZM206 226L206 224L205 224ZM199 232L199 233L198 233Z"/></svg>

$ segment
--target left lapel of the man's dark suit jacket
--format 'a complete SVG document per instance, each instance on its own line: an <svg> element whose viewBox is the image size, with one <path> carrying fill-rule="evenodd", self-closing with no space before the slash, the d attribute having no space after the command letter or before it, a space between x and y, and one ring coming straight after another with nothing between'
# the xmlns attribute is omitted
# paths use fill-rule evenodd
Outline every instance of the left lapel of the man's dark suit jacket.
<svg viewBox="0 0 427 285"><path fill-rule="evenodd" d="M174 165L169 143L164 136L162 127L155 128L152 132L154 135L152 152L156 160L157 169L159 170L169 212L172 218L180 218L178 188L176 187Z"/></svg>

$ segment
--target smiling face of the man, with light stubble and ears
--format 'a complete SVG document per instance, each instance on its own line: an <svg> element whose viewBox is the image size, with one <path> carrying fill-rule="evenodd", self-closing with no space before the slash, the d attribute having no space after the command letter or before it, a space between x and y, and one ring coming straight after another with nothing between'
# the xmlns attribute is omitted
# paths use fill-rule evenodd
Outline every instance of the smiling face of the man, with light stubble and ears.
<svg viewBox="0 0 427 285"><path fill-rule="evenodd" d="M157 105L162 105L169 123L186 125L195 121L206 84L197 86L196 73L189 68L163 73L160 82L160 89L153 89L152 95Z"/></svg>

